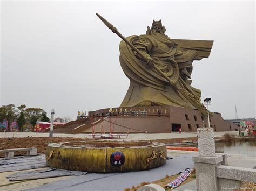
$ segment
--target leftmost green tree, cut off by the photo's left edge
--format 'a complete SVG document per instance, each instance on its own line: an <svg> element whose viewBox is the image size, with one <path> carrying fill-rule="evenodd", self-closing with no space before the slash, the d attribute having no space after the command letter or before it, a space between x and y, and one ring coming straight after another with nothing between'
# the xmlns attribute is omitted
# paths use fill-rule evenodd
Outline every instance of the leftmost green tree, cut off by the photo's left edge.
<svg viewBox="0 0 256 191"><path fill-rule="evenodd" d="M3 105L0 107L0 122L3 122L3 119L7 119L10 124L13 122L18 116L18 112L15 109L14 104Z"/></svg>

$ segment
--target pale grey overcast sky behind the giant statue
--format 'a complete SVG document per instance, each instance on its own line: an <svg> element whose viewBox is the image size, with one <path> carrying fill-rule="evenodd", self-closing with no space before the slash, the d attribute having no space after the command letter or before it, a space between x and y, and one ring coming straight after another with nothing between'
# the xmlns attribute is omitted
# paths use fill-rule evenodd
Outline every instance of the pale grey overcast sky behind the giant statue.
<svg viewBox="0 0 256 191"><path fill-rule="evenodd" d="M255 2L1 2L0 104L43 108L56 117L118 107L129 79L120 38L145 34L162 19L173 39L214 40L210 58L193 62L192 86L225 119L255 115Z"/></svg>

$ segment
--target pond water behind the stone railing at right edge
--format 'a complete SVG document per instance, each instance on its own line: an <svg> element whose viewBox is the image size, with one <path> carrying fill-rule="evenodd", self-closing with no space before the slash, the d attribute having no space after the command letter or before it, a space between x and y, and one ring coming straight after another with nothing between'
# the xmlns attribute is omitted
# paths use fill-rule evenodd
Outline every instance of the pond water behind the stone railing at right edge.
<svg viewBox="0 0 256 191"><path fill-rule="evenodd" d="M217 153L247 154L256 156L256 142L219 142L215 143Z"/></svg>

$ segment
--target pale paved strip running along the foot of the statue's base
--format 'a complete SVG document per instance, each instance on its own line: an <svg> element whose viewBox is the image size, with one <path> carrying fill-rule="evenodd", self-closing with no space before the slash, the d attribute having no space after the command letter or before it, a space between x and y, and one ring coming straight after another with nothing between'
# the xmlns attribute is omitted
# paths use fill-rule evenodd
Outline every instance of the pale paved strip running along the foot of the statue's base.
<svg viewBox="0 0 256 191"><path fill-rule="evenodd" d="M224 131L224 132L214 132L214 137L222 137L225 133L232 133L238 135L238 131ZM49 133L37 133L37 132L6 132L6 137L49 137ZM75 137L75 138L91 138L91 135L87 134L58 134L54 133L53 137ZM4 137L4 132L0 132L0 138ZM153 134L144 134L136 133L129 134L128 138L121 138L125 140L154 140L154 139L171 139L171 138L188 138L188 137L197 137L196 132L172 132L172 133L153 133Z"/></svg>

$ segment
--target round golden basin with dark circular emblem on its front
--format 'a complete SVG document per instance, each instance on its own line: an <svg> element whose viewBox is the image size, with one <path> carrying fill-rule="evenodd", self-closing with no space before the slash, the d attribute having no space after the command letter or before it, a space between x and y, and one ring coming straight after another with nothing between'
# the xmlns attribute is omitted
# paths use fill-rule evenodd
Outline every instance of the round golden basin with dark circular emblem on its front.
<svg viewBox="0 0 256 191"><path fill-rule="evenodd" d="M86 172L140 171L166 162L163 143L89 140L49 144L46 164Z"/></svg>

